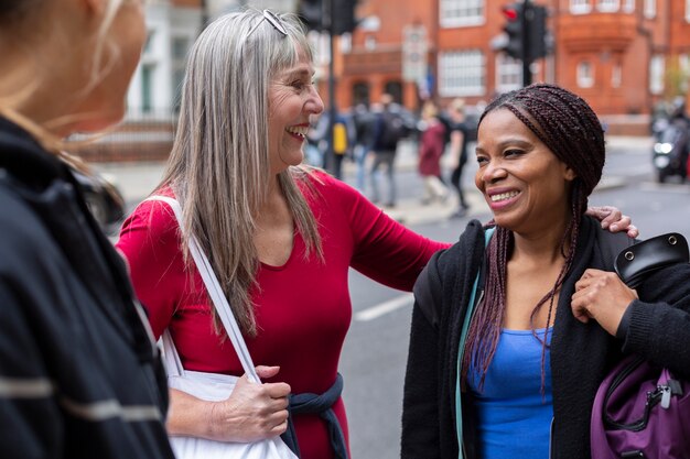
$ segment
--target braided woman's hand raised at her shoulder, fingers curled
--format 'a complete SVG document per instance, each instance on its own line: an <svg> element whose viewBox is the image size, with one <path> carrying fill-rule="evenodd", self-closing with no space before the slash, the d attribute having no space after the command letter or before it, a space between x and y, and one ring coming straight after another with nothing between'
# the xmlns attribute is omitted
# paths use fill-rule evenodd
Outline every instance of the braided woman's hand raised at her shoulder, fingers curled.
<svg viewBox="0 0 690 459"><path fill-rule="evenodd" d="M621 319L637 293L628 288L616 273L590 269L575 283L570 306L578 320L594 319L615 336Z"/></svg>

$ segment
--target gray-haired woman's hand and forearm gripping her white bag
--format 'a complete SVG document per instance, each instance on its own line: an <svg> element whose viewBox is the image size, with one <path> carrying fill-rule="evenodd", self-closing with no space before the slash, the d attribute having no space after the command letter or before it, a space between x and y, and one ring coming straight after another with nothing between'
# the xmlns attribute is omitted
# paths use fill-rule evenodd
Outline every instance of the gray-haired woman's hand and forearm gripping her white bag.
<svg viewBox="0 0 690 459"><path fill-rule="evenodd" d="M259 378L272 378L279 367L257 367ZM257 384L242 375L227 400L206 402L171 391L168 420L170 435L202 437L217 441L250 442L274 437L288 428L285 383Z"/></svg>

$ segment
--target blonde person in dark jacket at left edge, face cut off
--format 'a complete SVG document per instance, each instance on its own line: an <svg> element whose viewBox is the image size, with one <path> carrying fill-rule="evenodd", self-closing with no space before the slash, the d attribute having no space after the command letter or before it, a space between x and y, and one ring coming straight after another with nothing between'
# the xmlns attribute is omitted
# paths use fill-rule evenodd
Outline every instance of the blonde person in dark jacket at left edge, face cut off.
<svg viewBox="0 0 690 459"><path fill-rule="evenodd" d="M0 2L0 453L173 459L168 390L62 139L125 113L139 0Z"/></svg>

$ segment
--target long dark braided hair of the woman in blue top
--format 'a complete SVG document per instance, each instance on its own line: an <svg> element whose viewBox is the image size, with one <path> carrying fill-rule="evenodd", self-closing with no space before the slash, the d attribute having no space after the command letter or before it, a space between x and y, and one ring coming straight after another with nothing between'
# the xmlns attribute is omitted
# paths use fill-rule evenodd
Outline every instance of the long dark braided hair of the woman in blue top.
<svg viewBox="0 0 690 459"><path fill-rule="evenodd" d="M587 208L587 197L602 176L605 160L604 131L592 108L581 97L554 85L535 84L499 96L486 107L479 118L479 124L488 113L499 109L510 110L576 174L570 196L571 218L560 245L565 263L553 287L537 303L530 315L532 335L542 345L541 392L543 395L548 324L551 323L556 294L573 263L580 219ZM497 227L486 249L488 266L486 293L467 332L461 374L463 387L467 385L467 375L472 368L472 372L481 374L478 387L483 389L486 372L496 352L506 308L507 264L513 244L513 232ZM568 247L570 249L565 253ZM541 339L537 335L533 320L547 303L549 305L547 330Z"/></svg>

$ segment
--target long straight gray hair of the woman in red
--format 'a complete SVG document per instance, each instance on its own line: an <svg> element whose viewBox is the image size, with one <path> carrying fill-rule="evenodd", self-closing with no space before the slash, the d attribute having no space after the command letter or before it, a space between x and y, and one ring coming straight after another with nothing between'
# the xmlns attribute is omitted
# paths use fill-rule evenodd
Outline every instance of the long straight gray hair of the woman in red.
<svg viewBox="0 0 690 459"><path fill-rule="evenodd" d="M290 14L279 18L287 36L255 10L224 15L200 35L191 50L177 132L161 182L183 205L186 263L193 234L208 254L242 331L250 336L257 332L250 291L259 288L256 217L271 183L269 85L279 72L298 63L299 53L312 59L299 20ZM290 167L279 175L279 184L306 254L315 250L323 259L316 221L297 185L306 175L304 168Z"/></svg>

